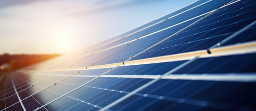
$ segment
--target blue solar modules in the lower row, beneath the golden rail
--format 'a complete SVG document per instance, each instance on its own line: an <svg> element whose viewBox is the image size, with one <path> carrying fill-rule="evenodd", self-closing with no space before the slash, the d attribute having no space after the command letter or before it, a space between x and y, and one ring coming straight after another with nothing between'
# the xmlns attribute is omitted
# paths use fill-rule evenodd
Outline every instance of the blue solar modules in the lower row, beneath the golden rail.
<svg viewBox="0 0 256 111"><path fill-rule="evenodd" d="M174 71L172 74L255 74L256 54L218 56L199 58L186 66ZM250 61L246 61L251 58ZM166 74L180 64L187 61L165 62L146 65L123 66L106 73L106 75L140 75L140 74ZM239 64L243 64L244 67ZM202 65L203 64L203 65ZM194 67L198 66L198 67ZM235 69L235 70L234 70ZM51 102L63 96L44 108L47 110L99 110L111 102L131 93L140 86L150 82L151 78L125 78L125 77L100 77L109 69L83 70L70 76L71 72L63 72L59 76L15 74L14 85L22 103L28 111ZM75 71L73 73L76 73ZM67 74L67 76L65 76ZM80 76L79 76L80 75ZM182 76L182 75L180 75ZM8 78L7 80L11 80ZM68 93L84 83L76 91ZM7 81L5 89L5 105L11 106L6 110L21 110L19 99L15 94L11 81ZM144 88L138 93L118 103L110 110L235 110L254 106L255 82L236 81L204 81L204 80L166 80L161 79ZM47 88L47 89L46 89ZM32 96L31 96L32 95ZM186 107L185 107L186 106ZM12 109L15 108L15 109ZM132 109L134 108L134 109ZM41 109L41 110L46 110ZM242 110L242 109L241 109Z"/></svg>

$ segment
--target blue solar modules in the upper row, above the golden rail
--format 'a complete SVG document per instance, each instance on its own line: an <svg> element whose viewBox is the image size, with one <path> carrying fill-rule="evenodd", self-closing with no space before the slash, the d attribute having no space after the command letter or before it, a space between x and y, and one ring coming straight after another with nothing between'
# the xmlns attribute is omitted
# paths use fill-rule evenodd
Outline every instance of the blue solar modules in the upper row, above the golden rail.
<svg viewBox="0 0 256 111"><path fill-rule="evenodd" d="M223 2L223 3L219 3ZM177 19L171 18L166 20L164 23L161 23L163 26L176 25L176 23L182 22L187 19L194 18L197 15L201 15L202 13L210 12L217 7L222 6L224 3L228 1L225 0L213 0L202 6L194 8L184 13L184 17L176 16ZM242 3L244 2L244 3ZM214 8L208 8L207 5L216 6ZM203 11L200 13L196 13L197 10ZM195 10L195 11L194 11ZM187 14L193 13L193 16L188 16ZM190 52L201 49L208 49L212 47L215 43L220 42L221 40L227 38L228 36L234 34L236 31L240 30L244 26L255 20L255 4L253 1L239 1L232 5L225 6L216 12L212 13L210 16L201 19L201 17L197 17L195 19L189 20L180 25L173 26L164 31L160 31L158 33L152 34L150 36L138 39L138 35L134 35L134 37L125 37L116 42L116 44L122 44L120 46L112 47L110 49L102 50L97 53L86 52L83 53L84 56L79 56L74 58L72 61L68 61L62 63L56 68L68 68L68 67L86 67L90 65L102 65L102 64L110 64L116 62L124 62L129 60L129 57L133 57L131 60L144 59L155 56L165 56L178 54L183 52ZM185 18L186 17L186 18ZM185 19L183 19L185 18ZM186 26L194 23L196 20L199 20L192 26L189 26L184 31L173 35L175 32L180 31ZM169 22L168 22L169 21ZM174 22L175 21L175 22ZM213 22L214 21L214 22ZM232 28L231 28L232 27ZM138 33L145 33L145 31L151 30L152 27L140 31ZM165 27L157 27L156 30L161 30ZM155 31L152 31L155 32ZM136 33L136 34L138 34ZM133 35L131 35L133 36ZM169 37L166 39L166 37ZM126 40L129 39L129 40ZM127 43L130 40L134 40L131 43ZM152 45L158 43L159 41L166 39L165 41L159 43L157 46L152 47ZM247 38L237 38L235 41L247 42L250 40L254 40L253 36ZM111 43L113 45L115 43ZM228 45L229 43L225 43L223 45ZM108 46L103 46L104 48L109 48ZM187 48L189 47L189 48ZM99 47L101 48L101 47ZM148 49L150 48L150 49ZM145 50L147 49L147 50ZM92 50L97 50L92 49ZM145 51L144 51L145 50ZM143 52L142 52L143 51ZM141 53L142 52L142 53ZM138 53L140 55L136 56Z"/></svg>

